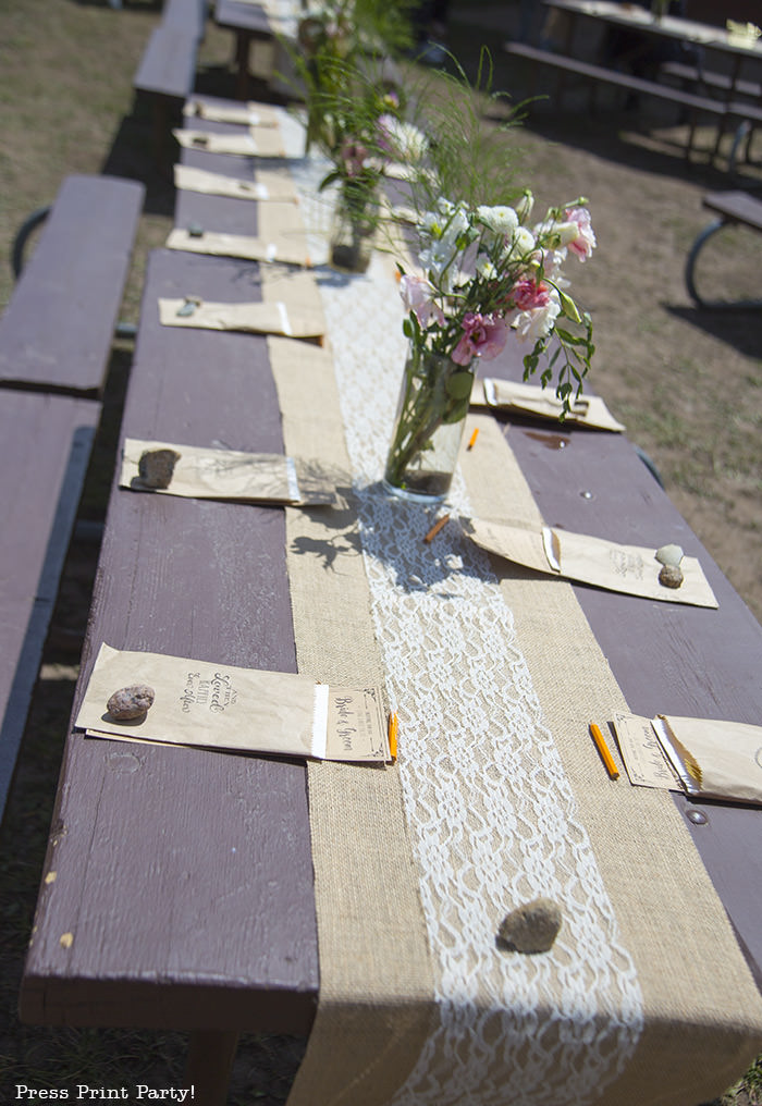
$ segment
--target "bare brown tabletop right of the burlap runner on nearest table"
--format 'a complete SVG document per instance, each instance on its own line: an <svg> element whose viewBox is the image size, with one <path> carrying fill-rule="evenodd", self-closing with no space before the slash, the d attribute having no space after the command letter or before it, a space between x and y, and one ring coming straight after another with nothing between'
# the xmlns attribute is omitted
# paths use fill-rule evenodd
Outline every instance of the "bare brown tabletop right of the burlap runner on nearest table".
<svg viewBox="0 0 762 1106"><path fill-rule="evenodd" d="M520 379L521 368L503 357L481 375ZM759 726L762 627L630 442L522 419L505 419L504 428L549 525L655 547L677 542L701 561L718 611L573 585L630 709ZM762 987L762 810L674 797ZM693 810L704 824L687 817Z"/></svg>

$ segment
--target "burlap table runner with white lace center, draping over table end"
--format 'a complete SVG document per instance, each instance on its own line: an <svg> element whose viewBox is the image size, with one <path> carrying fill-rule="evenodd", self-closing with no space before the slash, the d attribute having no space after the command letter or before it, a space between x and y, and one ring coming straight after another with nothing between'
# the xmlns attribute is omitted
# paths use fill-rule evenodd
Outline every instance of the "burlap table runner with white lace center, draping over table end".
<svg viewBox="0 0 762 1106"><path fill-rule="evenodd" d="M321 997L289 1106L719 1094L762 1002L669 796L602 771L587 722L627 705L573 588L453 524L424 544L434 513L378 484L405 355L389 268L321 290L335 383L326 352L270 340L286 450L352 473L345 511L286 512L300 669L383 678L400 749L309 769ZM470 424L450 509L537 521L492 418ZM499 921L536 894L559 939L507 954Z"/></svg>

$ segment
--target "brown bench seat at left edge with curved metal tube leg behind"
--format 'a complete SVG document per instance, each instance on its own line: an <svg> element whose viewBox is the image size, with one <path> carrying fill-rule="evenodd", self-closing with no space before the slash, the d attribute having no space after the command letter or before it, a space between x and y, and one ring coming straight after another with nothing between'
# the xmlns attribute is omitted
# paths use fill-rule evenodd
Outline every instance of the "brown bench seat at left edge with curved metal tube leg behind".
<svg viewBox="0 0 762 1106"><path fill-rule="evenodd" d="M0 386L100 396L145 189L67 177L0 319Z"/></svg>

